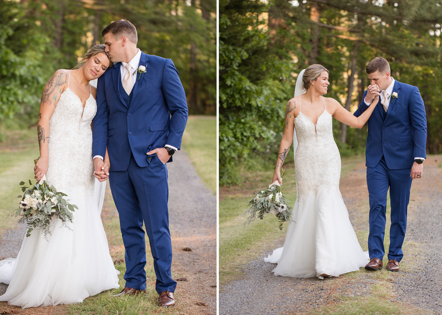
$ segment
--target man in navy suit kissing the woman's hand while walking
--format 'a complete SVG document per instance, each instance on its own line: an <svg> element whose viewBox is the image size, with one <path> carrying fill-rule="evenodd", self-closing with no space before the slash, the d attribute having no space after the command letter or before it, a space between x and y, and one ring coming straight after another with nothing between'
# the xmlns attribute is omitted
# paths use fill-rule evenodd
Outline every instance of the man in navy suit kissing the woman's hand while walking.
<svg viewBox="0 0 442 315"><path fill-rule="evenodd" d="M370 85L354 115L359 116L380 95L380 101L368 119L366 148L367 186L370 201L368 270L382 268L385 254L385 211L390 188L391 226L387 270L399 271L404 256L407 207L412 180L422 178L427 142L427 119L419 89L390 76L384 58L367 65Z"/></svg>

